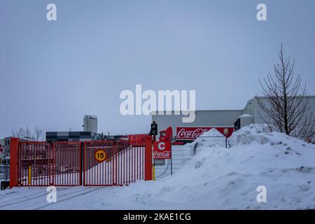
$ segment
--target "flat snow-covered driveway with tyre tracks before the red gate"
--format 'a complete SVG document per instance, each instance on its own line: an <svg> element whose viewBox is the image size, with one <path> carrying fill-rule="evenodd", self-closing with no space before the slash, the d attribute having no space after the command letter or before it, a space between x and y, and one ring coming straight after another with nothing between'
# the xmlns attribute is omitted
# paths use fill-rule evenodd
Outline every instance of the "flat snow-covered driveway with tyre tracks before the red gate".
<svg viewBox="0 0 315 224"><path fill-rule="evenodd" d="M148 182L147 182L148 183ZM147 183L142 183L147 184ZM152 182L151 182L152 183ZM151 185L148 183L148 185ZM179 203L141 202L141 191L125 187L60 187L57 202L46 200L46 188L15 188L0 192L0 210L8 209L172 209ZM131 190L131 191L130 191ZM134 194L132 193L134 192ZM128 195L132 193L132 195ZM137 196L138 195L138 196ZM135 197L134 197L135 196ZM164 205L163 205L164 204ZM186 208L188 209L188 208Z"/></svg>

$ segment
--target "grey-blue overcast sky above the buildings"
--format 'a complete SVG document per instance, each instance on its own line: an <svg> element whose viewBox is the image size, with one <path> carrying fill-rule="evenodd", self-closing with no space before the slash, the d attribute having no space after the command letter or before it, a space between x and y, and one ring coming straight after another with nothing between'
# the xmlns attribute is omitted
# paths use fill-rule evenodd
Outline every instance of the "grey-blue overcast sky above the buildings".
<svg viewBox="0 0 315 224"><path fill-rule="evenodd" d="M120 115L120 92L136 84L196 90L197 109L243 109L281 43L315 94L314 11L314 0L0 0L0 137L82 130L85 114L99 132L148 132L150 116Z"/></svg>

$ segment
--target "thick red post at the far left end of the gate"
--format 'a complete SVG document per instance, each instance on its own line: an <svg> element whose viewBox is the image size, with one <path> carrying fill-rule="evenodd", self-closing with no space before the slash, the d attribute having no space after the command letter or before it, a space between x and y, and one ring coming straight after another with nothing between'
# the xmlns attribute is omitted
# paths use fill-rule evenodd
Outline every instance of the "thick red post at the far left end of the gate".
<svg viewBox="0 0 315 224"><path fill-rule="evenodd" d="M10 188L18 186L18 148L19 148L19 139L11 138L11 141L10 141Z"/></svg>

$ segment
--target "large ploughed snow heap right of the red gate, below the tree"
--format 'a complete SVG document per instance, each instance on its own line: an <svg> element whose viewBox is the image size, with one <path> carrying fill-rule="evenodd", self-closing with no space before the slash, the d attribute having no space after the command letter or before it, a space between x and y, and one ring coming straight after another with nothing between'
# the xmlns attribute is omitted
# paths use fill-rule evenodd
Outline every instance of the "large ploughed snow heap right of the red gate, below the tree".
<svg viewBox="0 0 315 224"><path fill-rule="evenodd" d="M160 209L315 209L315 146L255 126L239 130L242 139L232 148L202 150L174 176L131 186L141 193L128 197L148 209L157 204ZM258 186L267 188L266 203L257 201Z"/></svg>

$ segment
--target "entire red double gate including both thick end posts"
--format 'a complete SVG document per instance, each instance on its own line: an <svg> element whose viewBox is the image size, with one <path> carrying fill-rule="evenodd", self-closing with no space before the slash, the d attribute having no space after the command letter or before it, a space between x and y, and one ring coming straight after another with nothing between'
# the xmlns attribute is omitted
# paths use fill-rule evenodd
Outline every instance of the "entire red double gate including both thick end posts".
<svg viewBox="0 0 315 224"><path fill-rule="evenodd" d="M105 160L96 158L99 151ZM10 188L123 186L137 180L152 180L151 138L54 144L12 138L10 142Z"/></svg>

